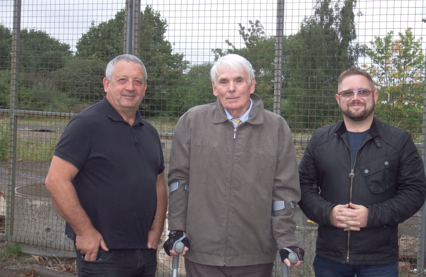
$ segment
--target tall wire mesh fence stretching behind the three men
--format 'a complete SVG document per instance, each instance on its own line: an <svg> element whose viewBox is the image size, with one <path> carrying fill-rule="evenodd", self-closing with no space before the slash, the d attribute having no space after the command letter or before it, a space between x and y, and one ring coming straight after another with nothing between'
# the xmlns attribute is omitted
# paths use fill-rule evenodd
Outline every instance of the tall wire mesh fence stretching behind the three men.
<svg viewBox="0 0 426 277"><path fill-rule="evenodd" d="M159 132L166 174L178 118L216 101L209 69L228 53L253 64L255 93L291 127L298 161L316 128L341 120L337 79L353 65L374 78L375 116L408 130L424 161L422 5L420 0L2 1L0 239L28 252L73 251L44 180L66 124L102 99L106 64L122 53L138 55L146 65L148 88L140 111ZM423 275L424 212L399 226L401 276ZM290 274L314 276L317 226L298 208L295 220L306 259ZM158 256L158 275L168 276L171 258L161 247ZM279 261L276 265L274 276L280 276Z"/></svg>

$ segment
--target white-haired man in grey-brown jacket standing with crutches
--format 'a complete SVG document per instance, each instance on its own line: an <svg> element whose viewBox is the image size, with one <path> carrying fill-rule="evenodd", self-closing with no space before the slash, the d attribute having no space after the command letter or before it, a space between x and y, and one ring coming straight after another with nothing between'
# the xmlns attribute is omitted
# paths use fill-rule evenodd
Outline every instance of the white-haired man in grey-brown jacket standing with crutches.
<svg viewBox="0 0 426 277"><path fill-rule="evenodd" d="M291 131L264 110L244 57L223 56L210 74L217 102L187 111L173 134L164 249L176 256L173 246L182 241L188 277L270 276L278 250L287 266L299 266ZM294 265L290 253L298 257Z"/></svg>

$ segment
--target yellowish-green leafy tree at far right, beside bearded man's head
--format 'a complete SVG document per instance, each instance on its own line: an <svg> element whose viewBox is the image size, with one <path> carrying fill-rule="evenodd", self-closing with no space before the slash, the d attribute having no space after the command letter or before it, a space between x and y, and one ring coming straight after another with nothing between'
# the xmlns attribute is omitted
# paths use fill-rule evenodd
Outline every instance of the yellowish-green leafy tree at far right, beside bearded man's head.
<svg viewBox="0 0 426 277"><path fill-rule="evenodd" d="M377 115L409 132L421 134L423 110L424 54L421 37L415 38L411 28L385 37L375 36L363 49L371 65L363 65L379 90Z"/></svg>

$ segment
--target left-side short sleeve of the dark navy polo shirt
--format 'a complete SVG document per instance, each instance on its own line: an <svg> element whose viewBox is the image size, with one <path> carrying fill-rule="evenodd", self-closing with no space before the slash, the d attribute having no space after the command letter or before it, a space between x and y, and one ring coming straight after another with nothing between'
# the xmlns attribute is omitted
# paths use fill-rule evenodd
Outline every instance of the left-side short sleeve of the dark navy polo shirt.
<svg viewBox="0 0 426 277"><path fill-rule="evenodd" d="M80 170L87 160L90 148L90 126L82 116L76 116L68 123L53 154Z"/></svg>

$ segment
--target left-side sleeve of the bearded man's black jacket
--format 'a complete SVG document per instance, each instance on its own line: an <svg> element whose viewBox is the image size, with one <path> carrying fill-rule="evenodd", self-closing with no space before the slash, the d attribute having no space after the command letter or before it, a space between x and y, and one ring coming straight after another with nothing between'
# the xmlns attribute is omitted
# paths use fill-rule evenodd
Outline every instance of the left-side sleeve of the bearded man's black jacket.
<svg viewBox="0 0 426 277"><path fill-rule="evenodd" d="M336 204L326 201L318 191L319 175L314 154L315 133L309 140L299 164L299 182L302 193L299 207L306 217L320 225L332 226L331 210Z"/></svg>

